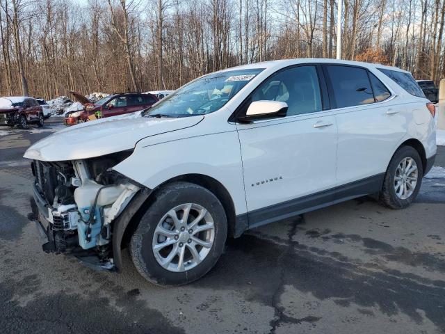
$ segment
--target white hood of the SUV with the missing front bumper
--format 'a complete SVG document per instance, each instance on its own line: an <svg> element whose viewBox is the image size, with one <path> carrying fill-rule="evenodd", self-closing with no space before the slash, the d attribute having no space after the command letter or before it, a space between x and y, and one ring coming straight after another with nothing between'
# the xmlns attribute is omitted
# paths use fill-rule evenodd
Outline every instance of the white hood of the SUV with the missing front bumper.
<svg viewBox="0 0 445 334"><path fill-rule="evenodd" d="M203 118L148 118L136 113L127 117L102 118L51 134L26 150L24 157L41 161L100 157L132 150L142 138L193 127Z"/></svg>

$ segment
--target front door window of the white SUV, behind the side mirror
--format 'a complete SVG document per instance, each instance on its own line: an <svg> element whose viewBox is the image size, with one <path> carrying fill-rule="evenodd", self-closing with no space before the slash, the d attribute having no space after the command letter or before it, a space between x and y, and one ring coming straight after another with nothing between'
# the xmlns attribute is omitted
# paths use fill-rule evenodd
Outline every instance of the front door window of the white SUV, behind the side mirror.
<svg viewBox="0 0 445 334"><path fill-rule="evenodd" d="M321 111L321 92L316 67L299 66L273 74L252 95L252 101L280 101L287 116Z"/></svg>

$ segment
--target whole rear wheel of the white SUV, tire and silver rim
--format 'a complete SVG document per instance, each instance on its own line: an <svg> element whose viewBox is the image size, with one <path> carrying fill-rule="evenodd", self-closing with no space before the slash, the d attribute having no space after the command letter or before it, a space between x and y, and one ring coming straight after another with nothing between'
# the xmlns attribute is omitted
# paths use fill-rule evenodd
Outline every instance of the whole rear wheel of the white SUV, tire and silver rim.
<svg viewBox="0 0 445 334"><path fill-rule="evenodd" d="M380 201L392 209L411 205L419 193L423 166L419 153L411 146L399 148L385 174Z"/></svg>

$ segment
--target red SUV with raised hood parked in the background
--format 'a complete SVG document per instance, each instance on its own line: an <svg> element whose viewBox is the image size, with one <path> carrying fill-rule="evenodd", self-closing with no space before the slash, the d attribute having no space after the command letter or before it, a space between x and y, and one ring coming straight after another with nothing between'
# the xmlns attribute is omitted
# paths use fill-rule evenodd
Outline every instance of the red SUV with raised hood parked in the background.
<svg viewBox="0 0 445 334"><path fill-rule="evenodd" d="M76 100L83 104L83 111L70 111L65 114L65 125L75 125L95 118L118 116L133 113L158 102L156 96L146 93L120 93L103 97L97 102L91 102L85 96L70 92Z"/></svg>

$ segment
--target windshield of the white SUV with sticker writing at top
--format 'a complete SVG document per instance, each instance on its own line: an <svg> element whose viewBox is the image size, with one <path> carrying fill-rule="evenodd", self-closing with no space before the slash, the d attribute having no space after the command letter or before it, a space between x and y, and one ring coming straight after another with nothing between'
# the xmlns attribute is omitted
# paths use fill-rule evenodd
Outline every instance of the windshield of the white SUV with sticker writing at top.
<svg viewBox="0 0 445 334"><path fill-rule="evenodd" d="M262 70L255 68L206 75L164 97L145 116L186 117L213 113Z"/></svg>

